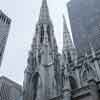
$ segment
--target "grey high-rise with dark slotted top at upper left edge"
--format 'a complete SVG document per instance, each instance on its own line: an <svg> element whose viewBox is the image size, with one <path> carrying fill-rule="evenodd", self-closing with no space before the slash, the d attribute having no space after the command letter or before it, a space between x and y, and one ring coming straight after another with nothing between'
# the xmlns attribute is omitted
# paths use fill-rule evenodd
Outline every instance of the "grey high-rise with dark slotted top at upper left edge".
<svg viewBox="0 0 100 100"><path fill-rule="evenodd" d="M11 25L11 19L8 18L1 10L0 10L0 65L2 63L3 54L8 38L8 33Z"/></svg>

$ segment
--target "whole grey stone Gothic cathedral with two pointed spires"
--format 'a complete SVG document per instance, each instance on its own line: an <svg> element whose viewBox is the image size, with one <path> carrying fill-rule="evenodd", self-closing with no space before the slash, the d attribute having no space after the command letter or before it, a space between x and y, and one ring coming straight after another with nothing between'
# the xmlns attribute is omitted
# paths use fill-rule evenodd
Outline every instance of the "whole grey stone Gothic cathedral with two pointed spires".
<svg viewBox="0 0 100 100"><path fill-rule="evenodd" d="M23 100L99 100L100 50L78 56L63 16L63 49L58 52L47 0L42 1L24 72Z"/></svg>

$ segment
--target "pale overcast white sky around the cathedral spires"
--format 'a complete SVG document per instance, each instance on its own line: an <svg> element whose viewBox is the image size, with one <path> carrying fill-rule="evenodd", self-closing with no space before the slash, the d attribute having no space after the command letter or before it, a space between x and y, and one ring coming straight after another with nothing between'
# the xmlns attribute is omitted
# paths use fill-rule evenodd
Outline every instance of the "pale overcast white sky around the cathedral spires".
<svg viewBox="0 0 100 100"><path fill-rule="evenodd" d="M62 49L62 15L68 14L66 3L69 0L47 0L50 16L54 25L54 34L59 52ZM0 75L23 84L24 69L35 33L42 0L0 0L0 9L11 19L11 29L3 57ZM69 24L68 24L69 25Z"/></svg>

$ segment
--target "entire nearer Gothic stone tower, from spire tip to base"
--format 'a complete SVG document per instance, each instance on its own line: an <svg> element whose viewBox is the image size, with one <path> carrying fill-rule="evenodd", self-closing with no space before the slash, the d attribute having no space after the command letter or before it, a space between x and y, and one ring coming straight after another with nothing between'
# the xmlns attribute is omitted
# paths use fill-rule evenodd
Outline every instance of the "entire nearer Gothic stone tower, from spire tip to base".
<svg viewBox="0 0 100 100"><path fill-rule="evenodd" d="M46 0L42 2L31 48L25 70L24 100L47 100L60 95L59 53Z"/></svg>

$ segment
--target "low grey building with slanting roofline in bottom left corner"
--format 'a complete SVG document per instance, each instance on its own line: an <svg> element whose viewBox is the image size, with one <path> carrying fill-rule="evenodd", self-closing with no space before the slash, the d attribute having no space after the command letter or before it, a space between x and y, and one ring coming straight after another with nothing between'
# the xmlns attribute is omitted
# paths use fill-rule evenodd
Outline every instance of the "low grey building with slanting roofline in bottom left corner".
<svg viewBox="0 0 100 100"><path fill-rule="evenodd" d="M21 96L21 85L4 76L0 77L0 100L19 100Z"/></svg>

